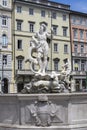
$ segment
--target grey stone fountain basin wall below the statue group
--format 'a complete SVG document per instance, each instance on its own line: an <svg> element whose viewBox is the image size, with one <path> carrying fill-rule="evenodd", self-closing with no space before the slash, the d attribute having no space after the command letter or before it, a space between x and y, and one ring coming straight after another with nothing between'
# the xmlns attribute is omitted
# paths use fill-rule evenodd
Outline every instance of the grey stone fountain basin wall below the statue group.
<svg viewBox="0 0 87 130"><path fill-rule="evenodd" d="M87 130L87 93L2 94L0 130Z"/></svg>

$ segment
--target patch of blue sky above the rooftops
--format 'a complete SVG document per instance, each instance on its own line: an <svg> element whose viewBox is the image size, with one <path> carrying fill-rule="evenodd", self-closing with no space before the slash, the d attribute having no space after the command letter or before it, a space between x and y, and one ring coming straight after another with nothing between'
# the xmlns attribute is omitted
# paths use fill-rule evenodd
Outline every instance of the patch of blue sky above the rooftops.
<svg viewBox="0 0 87 130"><path fill-rule="evenodd" d="M71 10L87 13L87 0L50 0L70 5Z"/></svg>

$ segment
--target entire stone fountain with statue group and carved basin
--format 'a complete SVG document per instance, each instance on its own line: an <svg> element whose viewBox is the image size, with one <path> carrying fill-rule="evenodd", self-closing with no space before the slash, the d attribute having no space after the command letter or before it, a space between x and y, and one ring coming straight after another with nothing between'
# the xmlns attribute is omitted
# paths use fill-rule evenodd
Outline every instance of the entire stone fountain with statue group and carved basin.
<svg viewBox="0 0 87 130"><path fill-rule="evenodd" d="M41 24L31 39L29 59L34 78L22 94L0 95L0 130L87 130L87 94L73 92L69 59L60 73L47 73L48 43ZM33 52L37 58L33 58ZM43 59L42 59L43 57ZM38 65L38 71L33 69Z"/></svg>

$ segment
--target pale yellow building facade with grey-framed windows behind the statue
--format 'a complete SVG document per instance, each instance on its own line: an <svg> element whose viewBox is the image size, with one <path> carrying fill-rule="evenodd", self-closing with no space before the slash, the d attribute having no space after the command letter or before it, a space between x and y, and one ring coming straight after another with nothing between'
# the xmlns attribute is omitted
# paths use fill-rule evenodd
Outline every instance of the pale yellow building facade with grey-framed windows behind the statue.
<svg viewBox="0 0 87 130"><path fill-rule="evenodd" d="M71 60L70 46L70 6L48 0L13 1L13 79L15 92L20 92L25 83L32 78L29 63L31 37L39 30L40 23L47 24L47 31L54 30L54 37L49 41L47 71L61 71L64 60Z"/></svg>

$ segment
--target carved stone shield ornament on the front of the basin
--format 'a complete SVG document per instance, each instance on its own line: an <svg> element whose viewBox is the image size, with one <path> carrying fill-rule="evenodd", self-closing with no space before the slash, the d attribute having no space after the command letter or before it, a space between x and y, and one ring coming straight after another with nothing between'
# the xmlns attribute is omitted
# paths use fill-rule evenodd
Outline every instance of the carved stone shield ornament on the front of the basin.
<svg viewBox="0 0 87 130"><path fill-rule="evenodd" d="M54 118L60 121L59 117L56 116L58 112L57 105L49 101L46 95L38 96L38 100L29 107L27 106L27 109L31 114L31 118L35 120L36 126L51 126Z"/></svg>

